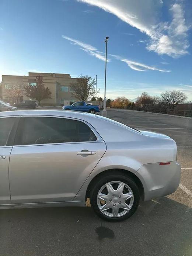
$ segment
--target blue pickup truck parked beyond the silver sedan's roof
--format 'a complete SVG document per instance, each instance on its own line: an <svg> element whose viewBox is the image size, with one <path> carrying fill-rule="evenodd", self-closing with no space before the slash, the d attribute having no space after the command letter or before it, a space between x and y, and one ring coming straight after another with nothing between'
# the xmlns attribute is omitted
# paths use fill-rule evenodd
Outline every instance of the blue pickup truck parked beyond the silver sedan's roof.
<svg viewBox="0 0 192 256"><path fill-rule="evenodd" d="M96 112L100 112L100 106L98 105L88 105L84 101L75 102L70 106L63 106L64 110L75 110L82 112L89 112L95 114Z"/></svg>

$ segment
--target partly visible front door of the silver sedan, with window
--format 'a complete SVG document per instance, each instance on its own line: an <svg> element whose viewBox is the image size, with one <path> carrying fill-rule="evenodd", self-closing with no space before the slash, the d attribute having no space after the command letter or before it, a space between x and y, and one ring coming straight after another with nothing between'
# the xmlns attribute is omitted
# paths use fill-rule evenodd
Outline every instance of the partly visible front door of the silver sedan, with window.
<svg viewBox="0 0 192 256"><path fill-rule="evenodd" d="M0 117L0 204L10 204L9 158L17 117Z"/></svg>

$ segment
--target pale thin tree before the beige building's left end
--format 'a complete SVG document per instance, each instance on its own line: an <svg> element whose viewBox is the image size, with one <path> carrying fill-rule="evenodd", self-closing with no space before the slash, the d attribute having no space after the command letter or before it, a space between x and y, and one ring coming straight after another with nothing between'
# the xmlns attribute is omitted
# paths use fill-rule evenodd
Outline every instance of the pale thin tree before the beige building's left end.
<svg viewBox="0 0 192 256"><path fill-rule="evenodd" d="M19 103L21 96L24 96L25 85L24 84L12 84L5 90L5 95L10 97L14 103Z"/></svg>

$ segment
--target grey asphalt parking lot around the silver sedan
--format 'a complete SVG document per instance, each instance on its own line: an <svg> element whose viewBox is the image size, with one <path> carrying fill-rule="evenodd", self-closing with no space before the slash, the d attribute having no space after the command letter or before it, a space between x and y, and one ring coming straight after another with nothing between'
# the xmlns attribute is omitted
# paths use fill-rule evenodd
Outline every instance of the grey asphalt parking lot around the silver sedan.
<svg viewBox="0 0 192 256"><path fill-rule="evenodd" d="M128 110L108 110L108 117L177 142L182 166L177 191L141 203L119 223L102 221L89 204L1 210L0 255L192 255L192 119Z"/></svg>

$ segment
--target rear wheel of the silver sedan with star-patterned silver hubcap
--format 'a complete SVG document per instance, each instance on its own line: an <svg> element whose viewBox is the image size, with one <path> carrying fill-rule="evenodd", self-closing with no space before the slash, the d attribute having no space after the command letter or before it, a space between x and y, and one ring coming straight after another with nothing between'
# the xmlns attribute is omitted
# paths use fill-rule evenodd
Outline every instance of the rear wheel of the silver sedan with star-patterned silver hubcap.
<svg viewBox="0 0 192 256"><path fill-rule="evenodd" d="M118 188L121 183L123 183L122 186L124 187L122 193L116 190L116 188ZM108 192L106 187L107 184L111 184L112 187L115 189L114 194L111 193L112 191ZM121 189L121 187L119 189ZM106 195L106 197L101 197L106 201L98 198L98 194L101 192L102 195ZM130 194L130 198L125 200L126 197L129 197L129 195L125 195L127 193L131 193L133 196L131 196ZM121 198L119 198L120 196ZM97 179L90 192L90 203L92 209L100 218L111 222L123 221L131 217L137 210L139 200L139 188L137 187L135 181L132 180L129 176L126 176L125 174L116 171L111 171L110 174L104 174L102 177ZM106 211L103 210L102 212L100 208L104 205L106 205L105 208L109 209L107 209ZM124 210L125 208L123 209L121 208L121 206L123 208L126 207L127 209ZM115 212L116 215L114 214L115 209L118 209L118 211L116 210Z"/></svg>

